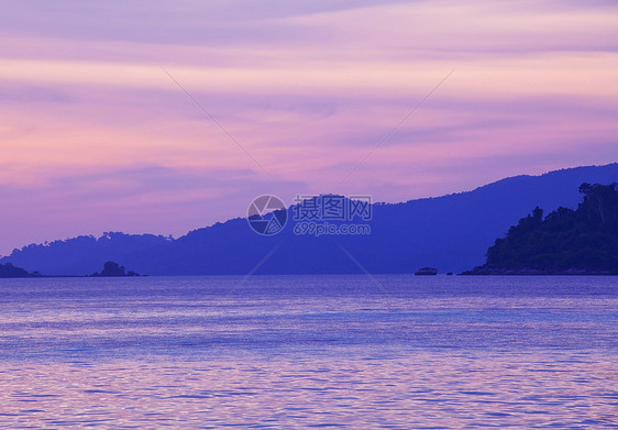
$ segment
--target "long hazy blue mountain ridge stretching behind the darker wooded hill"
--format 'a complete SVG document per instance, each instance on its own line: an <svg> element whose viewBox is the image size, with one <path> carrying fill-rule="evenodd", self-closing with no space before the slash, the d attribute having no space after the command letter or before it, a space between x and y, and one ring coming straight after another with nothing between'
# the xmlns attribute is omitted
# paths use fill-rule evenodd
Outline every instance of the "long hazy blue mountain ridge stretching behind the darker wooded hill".
<svg viewBox="0 0 618 430"><path fill-rule="evenodd" d="M371 234L297 235L295 221L263 236L246 219L198 229L176 240L106 233L15 250L11 262L46 275L86 275L107 261L147 275L462 272L484 262L495 238L539 206L575 208L582 183L618 180L618 164L516 176L472 191L402 203L374 203ZM295 208L288 209L291 219ZM363 268L361 268L361 266Z"/></svg>

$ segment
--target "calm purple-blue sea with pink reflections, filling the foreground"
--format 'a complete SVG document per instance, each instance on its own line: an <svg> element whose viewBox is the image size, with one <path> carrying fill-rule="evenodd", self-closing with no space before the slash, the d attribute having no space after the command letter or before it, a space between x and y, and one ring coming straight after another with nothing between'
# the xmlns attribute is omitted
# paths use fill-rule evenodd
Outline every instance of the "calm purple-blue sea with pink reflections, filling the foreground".
<svg viewBox="0 0 618 430"><path fill-rule="evenodd" d="M618 428L618 278L374 280L0 279L0 428Z"/></svg>

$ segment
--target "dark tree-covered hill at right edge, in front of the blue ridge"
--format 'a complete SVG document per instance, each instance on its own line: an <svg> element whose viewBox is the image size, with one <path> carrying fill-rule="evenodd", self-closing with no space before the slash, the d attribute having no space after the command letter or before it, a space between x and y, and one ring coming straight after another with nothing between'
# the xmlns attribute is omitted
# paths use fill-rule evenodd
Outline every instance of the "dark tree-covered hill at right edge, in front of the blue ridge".
<svg viewBox="0 0 618 430"><path fill-rule="evenodd" d="M618 274L618 184L582 184L576 210L537 207L466 274Z"/></svg>

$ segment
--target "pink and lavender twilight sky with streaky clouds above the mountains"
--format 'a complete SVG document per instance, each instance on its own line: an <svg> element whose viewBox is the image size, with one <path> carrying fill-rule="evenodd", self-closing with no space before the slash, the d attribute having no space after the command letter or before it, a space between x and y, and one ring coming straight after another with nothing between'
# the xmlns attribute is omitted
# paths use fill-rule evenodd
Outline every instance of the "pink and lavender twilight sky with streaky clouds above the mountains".
<svg viewBox="0 0 618 430"><path fill-rule="evenodd" d="M2 1L0 254L618 161L618 2Z"/></svg>

